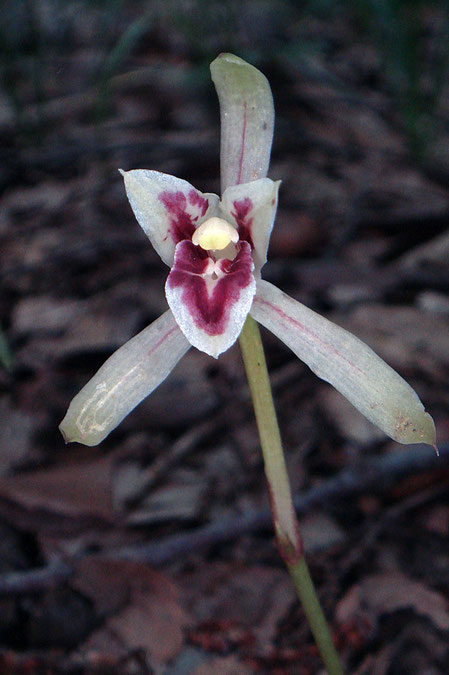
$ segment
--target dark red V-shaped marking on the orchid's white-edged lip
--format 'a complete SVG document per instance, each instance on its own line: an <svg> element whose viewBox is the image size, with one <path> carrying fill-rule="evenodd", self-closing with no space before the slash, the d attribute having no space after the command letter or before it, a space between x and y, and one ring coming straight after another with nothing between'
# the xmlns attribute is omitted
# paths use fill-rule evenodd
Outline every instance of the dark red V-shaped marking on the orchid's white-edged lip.
<svg viewBox="0 0 449 675"><path fill-rule="evenodd" d="M208 282L201 276L208 256L190 241L176 247L175 262L168 276L170 288L182 287L181 301L188 308L195 324L208 335L222 335L229 323L231 310L240 299L240 292L252 281L253 261L250 246L241 242L234 260L220 263L224 276Z"/></svg>

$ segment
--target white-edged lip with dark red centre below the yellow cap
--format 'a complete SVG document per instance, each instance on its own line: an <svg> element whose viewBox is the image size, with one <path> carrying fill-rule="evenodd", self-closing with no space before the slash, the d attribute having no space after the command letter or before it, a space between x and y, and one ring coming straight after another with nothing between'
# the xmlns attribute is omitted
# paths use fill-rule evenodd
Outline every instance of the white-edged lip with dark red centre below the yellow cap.
<svg viewBox="0 0 449 675"><path fill-rule="evenodd" d="M220 275L208 273L210 258L199 246L182 241L165 285L167 301L188 341L217 358L237 340L251 308L256 282L246 242L234 260L220 261Z"/></svg>

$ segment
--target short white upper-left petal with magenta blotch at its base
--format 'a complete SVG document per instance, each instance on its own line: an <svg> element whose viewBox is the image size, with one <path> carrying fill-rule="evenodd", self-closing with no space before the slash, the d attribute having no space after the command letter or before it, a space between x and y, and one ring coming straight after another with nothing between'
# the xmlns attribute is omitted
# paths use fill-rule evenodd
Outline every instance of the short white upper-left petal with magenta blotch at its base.
<svg viewBox="0 0 449 675"><path fill-rule="evenodd" d="M171 267L176 244L191 239L195 229L215 215L219 198L160 171L136 169L121 173L139 225Z"/></svg>

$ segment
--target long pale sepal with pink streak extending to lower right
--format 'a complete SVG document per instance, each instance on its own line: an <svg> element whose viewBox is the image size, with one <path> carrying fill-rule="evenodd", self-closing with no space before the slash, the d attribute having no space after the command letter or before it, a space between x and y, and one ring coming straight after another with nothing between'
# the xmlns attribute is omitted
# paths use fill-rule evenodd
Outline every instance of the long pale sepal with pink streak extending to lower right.
<svg viewBox="0 0 449 675"><path fill-rule="evenodd" d="M354 335L266 281L251 315L388 436L435 445L435 425L416 393Z"/></svg>

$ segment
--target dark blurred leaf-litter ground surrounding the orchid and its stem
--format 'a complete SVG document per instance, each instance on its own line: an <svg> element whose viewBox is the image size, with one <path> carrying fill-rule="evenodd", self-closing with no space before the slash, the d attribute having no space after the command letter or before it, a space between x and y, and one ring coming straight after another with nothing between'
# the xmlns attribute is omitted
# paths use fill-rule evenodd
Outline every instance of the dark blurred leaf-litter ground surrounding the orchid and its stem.
<svg viewBox="0 0 449 675"><path fill-rule="evenodd" d="M320 672L277 553L238 347L192 349L99 447L57 426L165 309L118 168L219 192L221 51L268 77L266 279L369 343L440 459L263 333L312 576L348 672L447 673L449 8L3 0L0 670Z"/></svg>

